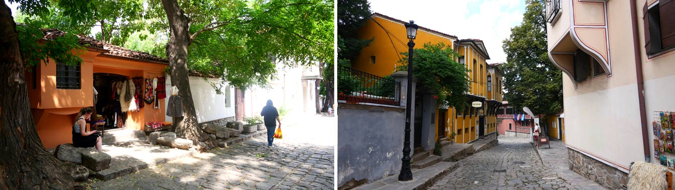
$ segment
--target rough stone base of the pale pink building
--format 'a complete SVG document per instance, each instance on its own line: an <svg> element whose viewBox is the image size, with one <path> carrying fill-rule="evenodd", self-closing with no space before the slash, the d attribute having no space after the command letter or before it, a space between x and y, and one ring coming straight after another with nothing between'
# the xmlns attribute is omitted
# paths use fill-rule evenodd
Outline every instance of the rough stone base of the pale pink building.
<svg viewBox="0 0 675 190"><path fill-rule="evenodd" d="M567 148L567 153L569 154L570 170L577 172L579 175L609 189L622 189L621 185L628 184L627 173L576 150Z"/></svg>

